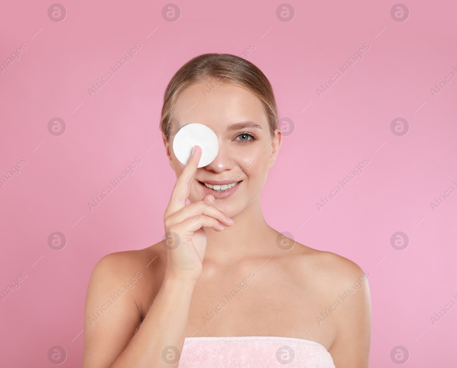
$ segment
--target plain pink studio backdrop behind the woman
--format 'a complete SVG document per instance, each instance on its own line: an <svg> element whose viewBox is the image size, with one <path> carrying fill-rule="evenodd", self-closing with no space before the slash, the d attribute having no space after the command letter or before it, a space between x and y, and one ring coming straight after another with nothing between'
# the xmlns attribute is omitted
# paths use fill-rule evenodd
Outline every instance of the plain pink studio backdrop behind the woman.
<svg viewBox="0 0 457 368"><path fill-rule="evenodd" d="M0 62L27 48L0 74L0 176L27 163L0 188L0 290L27 278L0 303L0 366L52 367L48 350L59 345L62 366L80 367L90 271L107 253L148 247L164 232L175 182L158 127L166 84L194 56L240 55L252 43L249 60L295 124L261 195L266 220L370 273L370 367L395 367L398 345L407 366L449 367L457 307L435 326L430 317L457 294L457 192L435 210L430 202L457 189L457 79L435 97L430 89L457 75L457 5L409 1L398 22L393 1L376 3L293 1L295 17L283 22L278 1L181 1L181 17L169 22L166 2L64 1L66 18L54 22L51 2L4 2ZM90 97L137 43L134 59ZM365 43L363 58L319 97ZM66 122L61 136L48 131L54 117ZM390 129L397 117L409 122L404 136ZM134 174L90 211L137 157ZM316 202L363 158L363 173L319 211ZM67 238L60 251L48 246L54 231ZM397 231L409 237L402 251L390 243Z"/></svg>

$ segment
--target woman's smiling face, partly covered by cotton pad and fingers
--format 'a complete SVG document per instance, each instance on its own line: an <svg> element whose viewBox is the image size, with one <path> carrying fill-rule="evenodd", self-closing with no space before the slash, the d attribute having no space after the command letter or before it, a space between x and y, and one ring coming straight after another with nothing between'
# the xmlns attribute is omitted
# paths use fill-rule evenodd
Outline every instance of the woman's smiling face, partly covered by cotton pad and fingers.
<svg viewBox="0 0 457 368"><path fill-rule="evenodd" d="M194 84L182 92L172 117L181 127L191 123L206 125L219 140L214 161L197 168L190 202L212 194L214 205L229 217L254 202L265 185L282 140L279 128L271 137L260 100L247 89L231 84L214 84L212 90L207 84ZM164 144L170 166L178 177L184 165L173 152L173 139L170 137L167 144L164 138ZM227 189L227 185L234 183L238 184Z"/></svg>

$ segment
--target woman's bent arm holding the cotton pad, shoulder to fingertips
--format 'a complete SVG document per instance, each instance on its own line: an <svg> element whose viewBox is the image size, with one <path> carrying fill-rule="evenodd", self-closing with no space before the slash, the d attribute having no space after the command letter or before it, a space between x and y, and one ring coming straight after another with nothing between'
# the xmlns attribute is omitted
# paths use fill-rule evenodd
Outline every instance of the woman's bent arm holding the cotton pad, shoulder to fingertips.
<svg viewBox="0 0 457 368"><path fill-rule="evenodd" d="M128 278L128 272L143 267L141 260L127 260L122 253L114 253L94 268L85 304L83 368L178 366L192 295L202 272L206 250L204 227L223 231L221 223L233 225L233 221L213 206L212 195L190 205L185 203L200 155L201 148L196 146L176 180L165 211L165 234L168 234L165 277L151 307L143 313L143 322L140 321L141 303L136 300L141 299L143 291L153 294L154 281L158 281L145 277L143 282L149 285L143 284L136 291L124 287L125 293L122 294L121 288L122 295L115 294ZM106 302L107 295L113 295L115 300L111 306ZM97 320L93 321L91 315Z"/></svg>

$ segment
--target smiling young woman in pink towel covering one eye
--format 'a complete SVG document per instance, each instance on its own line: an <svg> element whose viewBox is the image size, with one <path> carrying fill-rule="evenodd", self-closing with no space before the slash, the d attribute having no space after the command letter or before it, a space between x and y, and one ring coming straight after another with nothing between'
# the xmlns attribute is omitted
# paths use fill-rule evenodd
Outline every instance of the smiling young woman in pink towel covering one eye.
<svg viewBox="0 0 457 368"><path fill-rule="evenodd" d="M177 178L165 239L96 264L83 368L368 367L369 275L262 216L277 121L271 84L249 61L204 54L176 72L160 122ZM186 165L173 152L176 131L195 122L219 142L201 168L201 147Z"/></svg>

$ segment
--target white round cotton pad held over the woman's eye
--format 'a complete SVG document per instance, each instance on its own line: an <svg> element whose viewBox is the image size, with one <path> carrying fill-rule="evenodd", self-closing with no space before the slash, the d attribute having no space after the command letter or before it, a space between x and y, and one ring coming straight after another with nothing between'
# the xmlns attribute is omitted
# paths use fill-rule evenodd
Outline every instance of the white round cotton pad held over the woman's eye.
<svg viewBox="0 0 457 368"><path fill-rule="evenodd" d="M186 165L194 146L202 147L202 157L197 166L199 168L212 163L218 155L218 137L206 125L198 123L187 124L176 133L173 140L173 152L175 152L179 162Z"/></svg>

